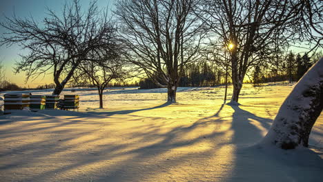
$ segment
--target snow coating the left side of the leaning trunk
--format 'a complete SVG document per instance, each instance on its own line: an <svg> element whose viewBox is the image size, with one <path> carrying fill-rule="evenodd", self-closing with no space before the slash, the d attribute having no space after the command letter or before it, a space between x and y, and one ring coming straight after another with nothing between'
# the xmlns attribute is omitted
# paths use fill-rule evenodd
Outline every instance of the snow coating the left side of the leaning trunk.
<svg viewBox="0 0 323 182"><path fill-rule="evenodd" d="M303 93L308 91L309 88L317 88L319 90L320 85L323 83L323 58L317 61L311 69L300 79L300 81L293 88L293 92L288 95L282 107L277 113L274 119L270 132L266 134L266 137L261 143L264 145L270 145L277 141L276 145L281 145L282 141L293 141L298 143L300 136L297 134L291 135L293 132L293 125L297 125L297 128L302 128L301 125L295 123L302 123L300 119L308 117L304 114L304 110L311 109L313 97L304 97ZM283 128L283 129L282 129ZM302 145L302 143L300 144Z"/></svg>

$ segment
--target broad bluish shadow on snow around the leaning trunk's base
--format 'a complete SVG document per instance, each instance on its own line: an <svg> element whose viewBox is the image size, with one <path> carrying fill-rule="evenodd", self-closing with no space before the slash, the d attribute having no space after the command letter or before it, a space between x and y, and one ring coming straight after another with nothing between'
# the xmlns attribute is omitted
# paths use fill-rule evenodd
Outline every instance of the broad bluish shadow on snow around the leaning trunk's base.
<svg viewBox="0 0 323 182"><path fill-rule="evenodd" d="M322 180L323 160L319 154L309 149L286 151L274 146L263 148L257 145L264 134L261 128L268 130L271 119L258 117L236 105L231 107L235 110L233 143L242 145L237 145L234 168L227 181ZM302 174L299 174L300 171Z"/></svg>

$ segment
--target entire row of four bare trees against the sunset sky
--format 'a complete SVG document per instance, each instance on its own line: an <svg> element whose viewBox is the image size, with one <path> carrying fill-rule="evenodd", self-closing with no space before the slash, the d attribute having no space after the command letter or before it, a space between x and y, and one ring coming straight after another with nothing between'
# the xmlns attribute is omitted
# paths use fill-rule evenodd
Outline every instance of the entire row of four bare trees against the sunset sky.
<svg viewBox="0 0 323 182"><path fill-rule="evenodd" d="M256 66L262 70L275 57L279 62L290 43L306 41L314 50L322 48L318 4L317 0L119 0L112 19L96 1L82 12L75 0L66 3L61 14L48 9L42 23L6 17L0 25L8 33L0 43L18 43L29 50L15 68L27 72L27 79L52 72L53 94L60 94L71 80L92 83L100 108L103 90L112 79L145 74L155 85L168 88L167 101L173 103L179 83L219 81L219 70L231 79L232 103L237 103L246 74ZM197 79L198 61L215 63L217 71L203 72L203 79Z"/></svg>

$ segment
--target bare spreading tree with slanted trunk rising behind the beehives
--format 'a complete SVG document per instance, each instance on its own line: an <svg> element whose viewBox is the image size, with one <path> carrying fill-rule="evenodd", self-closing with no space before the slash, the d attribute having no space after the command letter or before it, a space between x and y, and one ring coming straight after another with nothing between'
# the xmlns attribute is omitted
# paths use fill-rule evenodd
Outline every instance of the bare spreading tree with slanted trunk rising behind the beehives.
<svg viewBox="0 0 323 182"><path fill-rule="evenodd" d="M41 23L32 17L12 18L0 23L8 32L0 45L18 43L29 54L21 55L15 72L26 72L26 81L52 71L56 88L52 94L60 94L77 67L89 60L89 52L109 49L107 43L110 26L106 10L99 10L92 1L86 12L81 11L79 1L66 3L61 14L48 9L48 17Z"/></svg>

